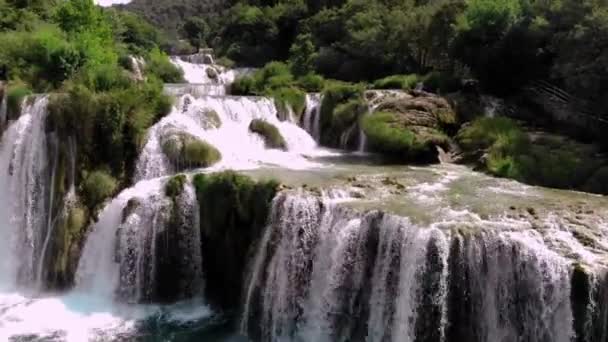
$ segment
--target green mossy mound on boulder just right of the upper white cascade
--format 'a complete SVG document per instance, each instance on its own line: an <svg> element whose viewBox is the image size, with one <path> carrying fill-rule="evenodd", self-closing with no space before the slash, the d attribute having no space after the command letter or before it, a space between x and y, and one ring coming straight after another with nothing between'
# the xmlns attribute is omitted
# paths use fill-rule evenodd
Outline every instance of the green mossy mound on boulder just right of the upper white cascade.
<svg viewBox="0 0 608 342"><path fill-rule="evenodd" d="M436 157L435 146L448 143L438 130L404 125L398 115L389 112L365 116L362 128L374 151L401 161L430 161Z"/></svg>

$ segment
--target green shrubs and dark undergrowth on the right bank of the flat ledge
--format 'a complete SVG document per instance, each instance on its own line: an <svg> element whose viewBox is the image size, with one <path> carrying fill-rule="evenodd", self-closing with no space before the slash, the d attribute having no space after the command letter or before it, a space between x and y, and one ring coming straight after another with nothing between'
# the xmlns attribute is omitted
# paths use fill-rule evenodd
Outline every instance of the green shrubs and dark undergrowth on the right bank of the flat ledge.
<svg viewBox="0 0 608 342"><path fill-rule="evenodd" d="M508 118L480 118L456 139L464 151L483 155L481 168L519 181L562 189L585 189L601 164L589 145L537 133L533 138ZM599 189L601 190L601 189Z"/></svg>

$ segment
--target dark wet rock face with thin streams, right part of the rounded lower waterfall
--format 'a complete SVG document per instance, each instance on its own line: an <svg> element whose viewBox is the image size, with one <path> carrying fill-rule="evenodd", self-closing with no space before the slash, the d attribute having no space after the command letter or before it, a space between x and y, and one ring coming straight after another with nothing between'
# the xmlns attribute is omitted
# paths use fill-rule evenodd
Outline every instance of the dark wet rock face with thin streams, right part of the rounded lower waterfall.
<svg viewBox="0 0 608 342"><path fill-rule="evenodd" d="M201 293L196 199L191 186L179 185L182 191L132 199L123 210L115 249L119 298L172 303Z"/></svg>

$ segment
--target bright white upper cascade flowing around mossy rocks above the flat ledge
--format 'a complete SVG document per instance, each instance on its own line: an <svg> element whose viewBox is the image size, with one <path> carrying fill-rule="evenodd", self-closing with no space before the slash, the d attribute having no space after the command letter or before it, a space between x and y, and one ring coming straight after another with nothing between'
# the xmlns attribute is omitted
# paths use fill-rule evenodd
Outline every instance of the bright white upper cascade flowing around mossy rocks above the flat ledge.
<svg viewBox="0 0 608 342"><path fill-rule="evenodd" d="M211 116L221 124L210 123ZM249 131L253 119L275 125L287 143L287 151L266 149L263 139ZM310 135L291 122L277 118L274 101L261 97L191 96L180 98L173 112L154 125L137 163L136 178L150 179L176 170L162 152L168 135L187 133L215 146L222 160L216 169L250 169L260 165L279 165L292 169L318 166L305 156L319 153Z"/></svg>

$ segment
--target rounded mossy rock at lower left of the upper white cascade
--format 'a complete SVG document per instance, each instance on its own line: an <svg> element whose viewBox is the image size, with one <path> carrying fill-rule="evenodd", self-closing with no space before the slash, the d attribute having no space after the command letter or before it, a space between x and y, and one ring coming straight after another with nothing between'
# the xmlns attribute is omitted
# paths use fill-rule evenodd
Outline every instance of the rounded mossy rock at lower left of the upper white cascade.
<svg viewBox="0 0 608 342"><path fill-rule="evenodd" d="M162 139L163 153L177 170L210 167L222 158L218 149L190 134L177 132Z"/></svg>

